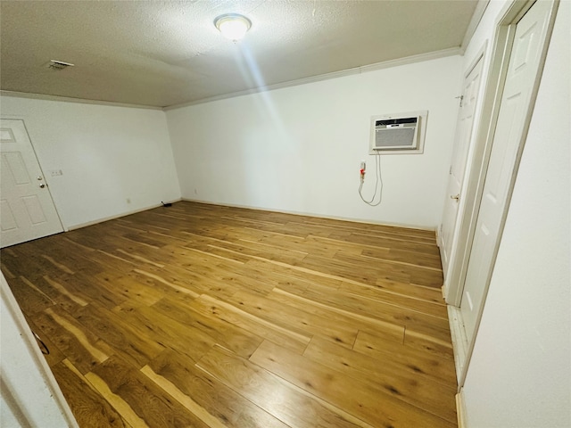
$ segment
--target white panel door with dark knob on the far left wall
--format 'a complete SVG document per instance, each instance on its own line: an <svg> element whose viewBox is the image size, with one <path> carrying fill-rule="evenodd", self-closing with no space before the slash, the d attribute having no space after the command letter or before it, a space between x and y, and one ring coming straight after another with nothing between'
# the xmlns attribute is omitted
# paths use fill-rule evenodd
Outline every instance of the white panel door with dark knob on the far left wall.
<svg viewBox="0 0 571 428"><path fill-rule="evenodd" d="M63 232L22 120L1 120L0 149L0 246Z"/></svg>

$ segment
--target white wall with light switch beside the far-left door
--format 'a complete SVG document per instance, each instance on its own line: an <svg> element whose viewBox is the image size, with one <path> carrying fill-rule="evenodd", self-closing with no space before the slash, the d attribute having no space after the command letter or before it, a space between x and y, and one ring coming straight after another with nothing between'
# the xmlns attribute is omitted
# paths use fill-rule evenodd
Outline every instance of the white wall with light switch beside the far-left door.
<svg viewBox="0 0 571 428"><path fill-rule="evenodd" d="M180 198L163 111L13 96L0 102L3 118L24 119L64 227ZM62 176L52 177L59 169Z"/></svg>

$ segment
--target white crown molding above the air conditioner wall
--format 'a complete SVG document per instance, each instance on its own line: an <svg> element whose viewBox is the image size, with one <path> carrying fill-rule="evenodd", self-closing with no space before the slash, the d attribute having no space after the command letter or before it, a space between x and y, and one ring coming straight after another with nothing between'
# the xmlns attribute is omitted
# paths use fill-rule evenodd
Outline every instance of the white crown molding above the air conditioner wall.
<svg viewBox="0 0 571 428"><path fill-rule="evenodd" d="M191 105L196 105L196 104L211 103L213 101L225 100L228 98L236 98L237 96L243 96L243 95L259 94L261 92L274 91L276 89L282 89L285 87L306 85L308 83L316 83L316 82L320 82L322 80L328 80L331 78L343 78L345 76L352 76L355 74L361 74L361 73L365 73L368 71L383 70L383 69L388 69L388 68L392 68L392 67L398 67L401 65L411 64L414 62L425 62L425 61L430 61L430 60L436 60L439 58L444 58L447 56L460 55L460 54L462 54L462 50L459 47L451 47L451 48L443 49L440 51L434 51L434 52L429 52L429 53L420 53L418 55L411 55L411 56L407 56L405 58L399 58L396 60L389 60L389 61L385 61L385 62L377 62L375 64L362 65L360 67L354 67L352 69L334 71L332 73L326 73L326 74L320 74L319 76L312 76L310 78L298 78L296 80L289 80L287 82L277 83L275 85L253 87L252 89L246 89L244 91L238 91L238 92L233 92L233 93L224 94L224 95L211 96L208 98L203 98L202 100L190 101L188 103L173 104L173 105L163 107L162 110L163 111L169 111L169 110L174 110L174 109L181 109L181 108L188 107Z"/></svg>

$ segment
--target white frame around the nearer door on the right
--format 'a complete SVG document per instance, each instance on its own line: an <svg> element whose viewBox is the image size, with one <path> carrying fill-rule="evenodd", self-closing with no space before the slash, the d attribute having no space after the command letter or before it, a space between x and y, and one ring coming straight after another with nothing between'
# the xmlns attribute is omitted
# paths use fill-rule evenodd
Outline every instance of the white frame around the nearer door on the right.
<svg viewBox="0 0 571 428"><path fill-rule="evenodd" d="M534 79L534 87L531 91L530 101L526 106L523 133L517 148L517 159L514 170L511 177L509 178L510 184L508 198L501 218L501 226L498 232L499 239L493 250L492 264L487 275L488 279L486 284L484 284L483 304L481 305L476 317L475 333L472 340L468 343L468 349L466 350L464 364L463 366L459 367L458 391L461 391L461 388L463 387L466 381L466 376L468 374L468 366L474 351L478 328L481 323L482 314L484 312L485 300L490 285L490 278L492 276L496 256L500 247L501 235L505 226L505 220L509 211L509 202L511 201L511 195L513 193L513 188L517 177L517 169L519 168L519 162L521 160L521 155L524 149L527 131L529 129L529 124L533 115L535 99L537 97L537 92L539 90L539 85L542 78L542 70L545 64L545 57L547 56L547 50L550 45L550 37L553 31L553 25L555 23L559 0L550 0L550 2L550 21L548 24L547 36L545 38L545 43L541 48L542 52L540 55L540 65L537 75ZM452 260L453 263L451 264L449 275L450 280L447 282L448 287L445 297L447 303L451 306L459 306L459 300L461 299L464 282L468 271L468 260L474 241L476 220L479 212L480 202L482 200L482 193L484 192L484 181L487 173L488 161L490 160L490 154L492 152L492 142L498 123L498 116L501 107L501 97L503 95L503 89L507 77L509 58L511 56L511 49L514 42L517 22L520 21L520 19L525 15L527 11L529 11L529 9L531 9L534 3L535 0L511 0L509 3L504 4L499 14L499 18L496 19L495 22L494 31L492 34L492 54L490 63L487 68L487 78L484 85L482 111L480 113L480 117L478 118L476 138L473 143L474 149L469 160L470 163L467 165L468 177L466 177L467 186L464 196L467 202L464 210L459 213L459 218L457 218L457 221L460 221L460 226L456 239L459 240L459 242L461 242L460 240L462 239L466 240L466 245L463 248L456 249L458 253L455 254L455 257Z"/></svg>

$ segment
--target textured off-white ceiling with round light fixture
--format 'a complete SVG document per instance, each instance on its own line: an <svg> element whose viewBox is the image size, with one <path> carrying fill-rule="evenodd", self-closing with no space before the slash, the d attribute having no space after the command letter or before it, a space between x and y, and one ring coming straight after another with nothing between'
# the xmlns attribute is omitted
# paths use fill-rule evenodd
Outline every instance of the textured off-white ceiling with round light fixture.
<svg viewBox="0 0 571 428"><path fill-rule="evenodd" d="M0 88L165 107L459 47L477 0L0 2ZM242 42L216 16L252 21ZM75 67L50 70L50 60Z"/></svg>

